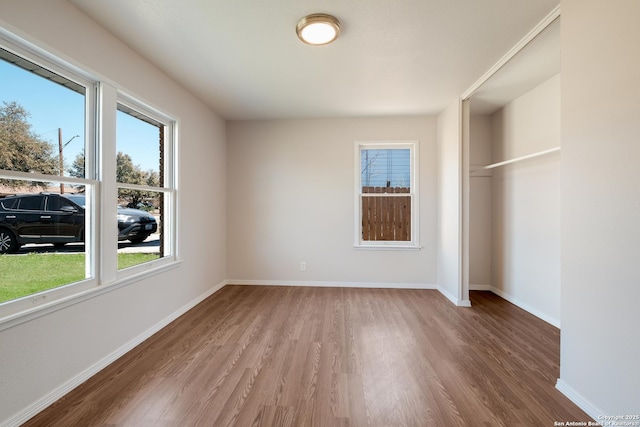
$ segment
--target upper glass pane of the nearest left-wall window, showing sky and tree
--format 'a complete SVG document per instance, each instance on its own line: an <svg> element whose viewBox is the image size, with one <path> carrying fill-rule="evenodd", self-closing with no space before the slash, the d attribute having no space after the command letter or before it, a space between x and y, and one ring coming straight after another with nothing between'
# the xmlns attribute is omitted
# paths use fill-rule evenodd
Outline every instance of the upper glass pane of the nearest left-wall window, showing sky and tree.
<svg viewBox="0 0 640 427"><path fill-rule="evenodd" d="M84 178L84 135L85 88L0 49L0 169Z"/></svg>

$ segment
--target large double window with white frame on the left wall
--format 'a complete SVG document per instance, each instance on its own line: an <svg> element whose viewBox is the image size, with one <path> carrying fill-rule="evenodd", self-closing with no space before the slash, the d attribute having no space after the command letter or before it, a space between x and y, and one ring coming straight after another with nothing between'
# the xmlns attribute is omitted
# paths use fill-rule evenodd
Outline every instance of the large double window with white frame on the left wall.
<svg viewBox="0 0 640 427"><path fill-rule="evenodd" d="M176 261L174 120L8 38L0 36L0 321Z"/></svg>

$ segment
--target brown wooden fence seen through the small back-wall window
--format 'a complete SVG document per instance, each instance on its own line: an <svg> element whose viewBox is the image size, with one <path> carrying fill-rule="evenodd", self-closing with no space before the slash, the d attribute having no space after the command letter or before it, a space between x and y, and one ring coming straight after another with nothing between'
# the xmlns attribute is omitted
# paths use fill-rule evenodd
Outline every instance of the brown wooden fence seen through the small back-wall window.
<svg viewBox="0 0 640 427"><path fill-rule="evenodd" d="M362 240L411 240L411 196L406 187L362 187Z"/></svg>

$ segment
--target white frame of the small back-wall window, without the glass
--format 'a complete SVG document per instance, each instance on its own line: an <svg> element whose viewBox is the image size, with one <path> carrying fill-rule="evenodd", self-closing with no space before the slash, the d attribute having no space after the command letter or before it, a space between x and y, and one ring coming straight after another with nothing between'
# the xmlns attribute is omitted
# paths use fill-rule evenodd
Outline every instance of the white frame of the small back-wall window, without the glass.
<svg viewBox="0 0 640 427"><path fill-rule="evenodd" d="M385 250L417 250L420 249L420 215L418 212L418 159L419 141L356 141L354 150L354 171L355 171L355 188L354 188L354 247L356 249L385 249ZM401 193L402 196L411 197L411 240L409 241L371 241L362 239L362 171L361 171L361 155L363 150L398 150L409 149L409 157L411 161L410 172L410 192ZM398 194L399 195L399 194ZM365 196L367 197L367 196ZM368 197L396 197L395 195L385 196L379 194L377 196Z"/></svg>

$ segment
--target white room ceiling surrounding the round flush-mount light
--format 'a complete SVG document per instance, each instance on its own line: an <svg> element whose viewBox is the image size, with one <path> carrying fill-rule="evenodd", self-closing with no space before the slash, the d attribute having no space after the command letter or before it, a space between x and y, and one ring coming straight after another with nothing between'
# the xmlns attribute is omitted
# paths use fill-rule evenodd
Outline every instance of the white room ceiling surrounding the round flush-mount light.
<svg viewBox="0 0 640 427"><path fill-rule="evenodd" d="M559 4L70 1L225 119L439 113ZM335 43L297 39L296 22L315 12L341 21Z"/></svg>

